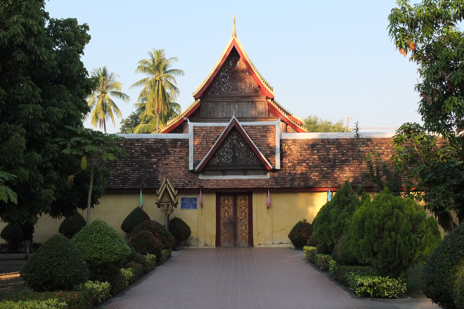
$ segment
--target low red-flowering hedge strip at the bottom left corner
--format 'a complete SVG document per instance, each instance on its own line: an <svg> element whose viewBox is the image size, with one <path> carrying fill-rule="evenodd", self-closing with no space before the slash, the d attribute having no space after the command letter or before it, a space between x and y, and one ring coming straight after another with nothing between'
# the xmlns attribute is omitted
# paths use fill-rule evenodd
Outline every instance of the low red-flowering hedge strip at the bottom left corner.
<svg viewBox="0 0 464 309"><path fill-rule="evenodd" d="M59 292L32 292L26 294L20 294L12 300L14 301L37 301L47 299L58 299L62 303L66 303L68 306L66 309L91 309L93 308L94 298L93 293L87 290L80 291L59 291Z"/></svg>

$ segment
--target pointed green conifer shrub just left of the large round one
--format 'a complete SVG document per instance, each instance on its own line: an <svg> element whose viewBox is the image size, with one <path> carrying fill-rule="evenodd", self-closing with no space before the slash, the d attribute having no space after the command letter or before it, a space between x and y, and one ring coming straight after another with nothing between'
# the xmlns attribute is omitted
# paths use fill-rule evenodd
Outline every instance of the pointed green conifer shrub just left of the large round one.
<svg viewBox="0 0 464 309"><path fill-rule="evenodd" d="M351 216L360 204L356 193L346 180L343 187L337 190L332 200L322 206L314 219L314 236L319 244L328 245L328 251L331 252L333 244L348 230Z"/></svg>

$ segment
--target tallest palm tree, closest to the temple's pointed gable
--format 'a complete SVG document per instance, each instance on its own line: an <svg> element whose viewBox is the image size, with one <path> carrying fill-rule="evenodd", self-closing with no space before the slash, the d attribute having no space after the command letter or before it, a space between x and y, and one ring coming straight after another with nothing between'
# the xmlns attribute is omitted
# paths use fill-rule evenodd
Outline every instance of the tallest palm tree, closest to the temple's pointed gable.
<svg viewBox="0 0 464 309"><path fill-rule="evenodd" d="M142 73L147 75L147 77L139 80L130 86L129 89L139 86L143 87L137 103L145 103L143 114L145 120L154 122L154 118L156 117L155 132L158 133L160 116L169 114L171 110L170 106L173 105L172 103L175 103L174 101L179 94L175 77L184 76L185 73L182 70L171 69L174 62L178 60L176 57L166 58L164 49L152 49L147 53L149 58L140 60L135 69L135 73ZM140 126L142 125L137 126L137 132L153 132L153 124L152 126Z"/></svg>

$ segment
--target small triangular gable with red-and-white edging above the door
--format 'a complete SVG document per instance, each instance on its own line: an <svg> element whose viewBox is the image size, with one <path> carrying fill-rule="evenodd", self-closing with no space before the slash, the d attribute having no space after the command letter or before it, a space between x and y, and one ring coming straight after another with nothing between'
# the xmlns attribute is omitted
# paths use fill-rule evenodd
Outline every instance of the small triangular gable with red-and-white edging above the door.
<svg viewBox="0 0 464 309"><path fill-rule="evenodd" d="M237 118L227 125L213 147L195 168L201 170L271 170L273 167L246 134Z"/></svg>

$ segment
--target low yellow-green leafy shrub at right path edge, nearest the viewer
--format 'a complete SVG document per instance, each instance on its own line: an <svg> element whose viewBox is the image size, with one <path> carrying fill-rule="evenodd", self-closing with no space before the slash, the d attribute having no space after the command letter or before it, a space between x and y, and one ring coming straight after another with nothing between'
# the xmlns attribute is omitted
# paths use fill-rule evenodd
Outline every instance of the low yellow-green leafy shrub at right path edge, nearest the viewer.
<svg viewBox="0 0 464 309"><path fill-rule="evenodd" d="M401 279L366 276L357 272L350 272L347 277L349 289L360 297L368 295L392 298L406 291L406 284L401 282Z"/></svg>

